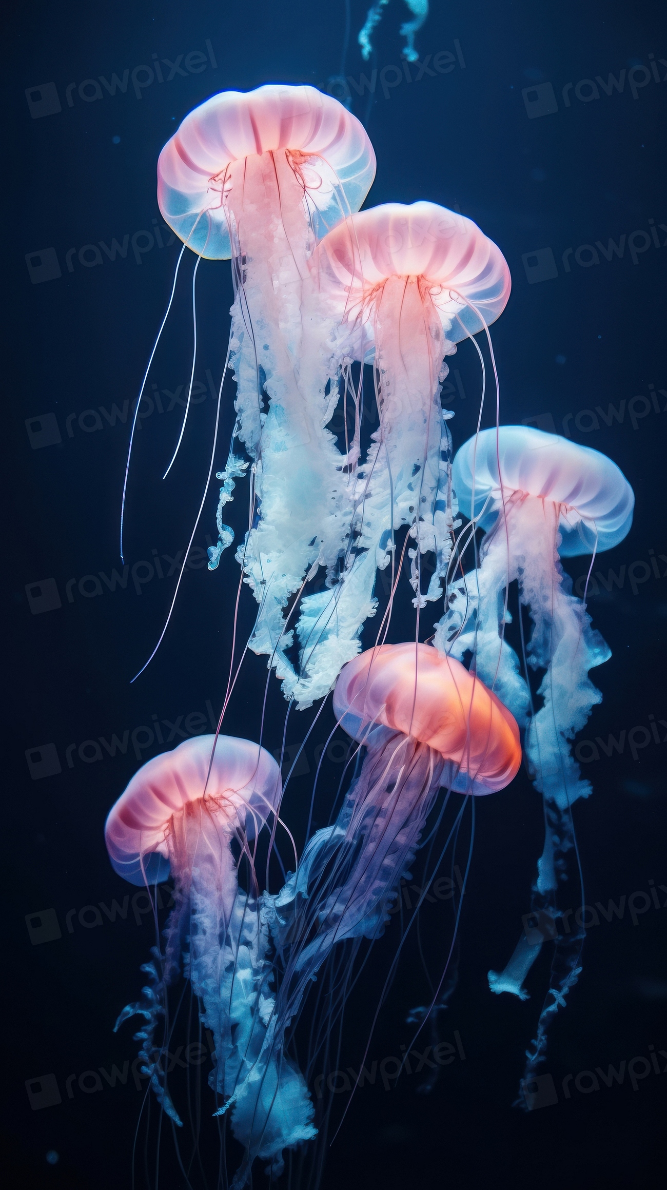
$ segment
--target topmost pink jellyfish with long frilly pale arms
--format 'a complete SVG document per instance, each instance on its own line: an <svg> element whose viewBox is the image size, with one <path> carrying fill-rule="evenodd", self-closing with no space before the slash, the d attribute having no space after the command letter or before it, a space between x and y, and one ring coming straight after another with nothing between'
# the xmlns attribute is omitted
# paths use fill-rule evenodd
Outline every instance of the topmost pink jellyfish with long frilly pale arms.
<svg viewBox="0 0 667 1190"><path fill-rule="evenodd" d="M331 515L340 455L327 428L338 401L335 322L309 258L317 239L360 207L375 167L361 124L341 104L279 84L214 95L185 117L158 162L170 227L200 256L232 258L237 424L218 472L209 569L233 540L224 509L251 463L250 530L237 555L259 603L251 647L270 656L288 696L295 674L284 607L319 558L336 556L340 538ZM237 439L247 458L235 453Z"/></svg>

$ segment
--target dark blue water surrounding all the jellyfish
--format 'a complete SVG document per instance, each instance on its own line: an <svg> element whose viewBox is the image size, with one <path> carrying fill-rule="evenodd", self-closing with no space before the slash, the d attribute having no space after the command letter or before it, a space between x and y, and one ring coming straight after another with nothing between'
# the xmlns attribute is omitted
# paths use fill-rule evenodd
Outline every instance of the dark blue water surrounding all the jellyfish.
<svg viewBox="0 0 667 1190"><path fill-rule="evenodd" d="M660 1177L667 1086L663 6L505 0L461 8L432 0L417 33L420 63L405 70L399 0L385 10L369 63L355 43L365 11L353 0L345 86L335 81L341 0L37 4L11 18L4 73L11 669L2 750L2 1163L11 1185L131 1185L145 1084L124 1066L137 1050L130 1029L115 1035L112 1026L138 992L152 925L132 890L125 916L113 909L115 898L122 910L127 887L109 868L102 827L139 763L161 750L156 720L171 746L180 733L209 729L216 720L238 581L231 553L214 574L204 565L215 540L214 488L163 646L130 684L162 630L174 559L201 499L233 296L228 265L203 262L197 403L178 462L162 483L190 367L187 283L178 290L147 388L155 394L157 386L162 409L151 400L137 436L130 572L125 585L114 583L114 568L122 577L127 402L138 392L177 253L159 218L156 161L202 100L270 81L348 95L378 159L366 205L429 199L468 215L501 246L514 284L492 332L502 421L533 419L605 452L636 494L631 533L596 560L591 588L593 625L612 650L592 675L604 697L578 741L593 784L593 796L575 807L585 903L593 912L584 915L590 928L581 978L552 1029L542 1098L529 1113L512 1107L546 987L546 950L529 977L531 1000L491 996L486 984L486 971L503 966L521 932L542 846L540 800L521 775L477 807L458 985L439 1025L440 1040L452 1047L441 1051L447 1064L434 1070L424 1061L419 1072L413 1059L411 1073L397 1083L386 1078L388 1089L379 1075L360 1088L328 1152L323 1185L621 1188L643 1186L654 1171ZM163 81L153 74L153 55ZM122 81L125 70L125 92L115 86L111 94L114 75ZM371 93L361 74L371 79L372 70ZM479 365L470 343L451 365L457 446L477 415ZM224 397L220 466L233 426L231 380ZM483 424L491 420L490 413ZM228 507L241 528L244 506ZM586 566L586 559L568 563L575 580ZM390 639L413 633L408 596L401 596ZM253 613L244 591L241 640ZM433 615L429 605L428 614L422 639L441 609ZM229 734L258 738L265 679L265 660L250 654L229 704ZM273 678L266 707L263 743L275 751L285 704ZM309 712L291 713L288 757L312 720ZM300 845L333 724L327 710L290 781L285 813ZM114 746L114 734L125 751ZM342 746L329 749L316 826L328 818L341 754ZM461 853L465 865L467 837ZM408 885L407 902L411 895ZM163 916L166 902L165 895ZM573 887L573 914L580 904ZM435 896L421 920L432 972L442 969L451 928L452 901ZM388 929L351 1000L339 1070L358 1069L397 929ZM407 1013L427 996L415 942L379 1016L370 1059L379 1065L401 1057L413 1035ZM416 1048L433 1040L424 1033ZM185 1060L187 1044L184 1031L174 1044L174 1071L183 1086L191 1081L194 1102L201 1082L202 1169L193 1184L215 1185L208 1058ZM114 1078L114 1064L125 1070L125 1083ZM336 1120L344 1083L332 1084L340 1086ZM184 1186L170 1136L163 1140L159 1185ZM153 1155L147 1164L155 1182ZM144 1185L143 1157L138 1169L137 1185ZM268 1184L260 1171L256 1184Z"/></svg>

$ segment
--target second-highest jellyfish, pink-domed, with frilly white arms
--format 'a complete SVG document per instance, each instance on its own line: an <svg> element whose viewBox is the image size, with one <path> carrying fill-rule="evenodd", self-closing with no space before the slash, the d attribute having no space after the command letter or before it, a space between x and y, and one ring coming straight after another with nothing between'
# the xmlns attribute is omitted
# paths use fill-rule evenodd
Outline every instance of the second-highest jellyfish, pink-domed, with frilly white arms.
<svg viewBox="0 0 667 1190"><path fill-rule="evenodd" d="M352 215L319 245L313 268L341 324L339 358L375 364L379 428L360 462L357 430L345 459L338 520L348 532L342 563L323 591L301 602L300 706L327 694L359 652L377 607L376 570L394 560L408 526L415 606L438 600L452 552L451 446L440 386L445 357L486 328L506 305L510 275L499 249L464 215L433 202L392 202ZM358 394L355 396L358 406ZM420 556L435 570L420 587ZM392 584L394 585L394 584Z"/></svg>

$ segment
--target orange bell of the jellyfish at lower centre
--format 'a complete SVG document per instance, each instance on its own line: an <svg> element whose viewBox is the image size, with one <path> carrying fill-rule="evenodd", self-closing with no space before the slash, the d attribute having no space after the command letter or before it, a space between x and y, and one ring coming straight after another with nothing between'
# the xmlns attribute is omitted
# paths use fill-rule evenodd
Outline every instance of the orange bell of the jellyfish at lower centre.
<svg viewBox="0 0 667 1190"><path fill-rule="evenodd" d="M514 715L460 662L429 645L360 653L338 679L334 712L345 731L369 745L382 725L440 752L448 762L441 784L460 793L497 793L521 764Z"/></svg>

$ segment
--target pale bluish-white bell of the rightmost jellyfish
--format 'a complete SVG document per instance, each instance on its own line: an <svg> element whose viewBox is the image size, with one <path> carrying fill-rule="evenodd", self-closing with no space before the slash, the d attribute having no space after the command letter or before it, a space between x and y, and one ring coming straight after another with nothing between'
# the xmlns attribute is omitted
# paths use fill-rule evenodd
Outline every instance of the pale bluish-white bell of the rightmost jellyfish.
<svg viewBox="0 0 667 1190"><path fill-rule="evenodd" d="M633 524L635 495L616 463L559 434L501 426L497 441L495 430L484 430L457 451L452 482L459 508L479 518L480 528L498 516L499 476L505 499L518 491L560 507L561 557L611 550Z"/></svg>

